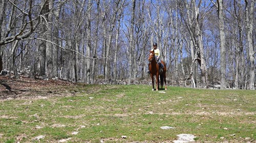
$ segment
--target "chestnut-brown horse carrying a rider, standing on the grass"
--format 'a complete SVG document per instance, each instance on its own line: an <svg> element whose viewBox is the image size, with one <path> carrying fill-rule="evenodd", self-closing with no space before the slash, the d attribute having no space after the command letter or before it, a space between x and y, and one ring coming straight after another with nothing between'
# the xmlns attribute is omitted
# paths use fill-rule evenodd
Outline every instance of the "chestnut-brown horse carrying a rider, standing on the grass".
<svg viewBox="0 0 256 143"><path fill-rule="evenodd" d="M155 59L155 52L154 50L151 51L150 50L150 56L148 57L148 62L150 62L150 64L148 64L148 67L150 69L150 76L151 76L151 79L152 79L152 91L155 90L154 88L154 75L156 75L156 91L159 90L159 76L160 76L160 85L161 85L161 88L163 87L163 82L164 82L164 85L165 85L165 90L167 90L167 87L166 87L166 66L165 66L165 63L163 61L161 61L161 63L164 65L164 68L163 68L163 72L160 73L159 71L159 65L157 64L157 61Z"/></svg>

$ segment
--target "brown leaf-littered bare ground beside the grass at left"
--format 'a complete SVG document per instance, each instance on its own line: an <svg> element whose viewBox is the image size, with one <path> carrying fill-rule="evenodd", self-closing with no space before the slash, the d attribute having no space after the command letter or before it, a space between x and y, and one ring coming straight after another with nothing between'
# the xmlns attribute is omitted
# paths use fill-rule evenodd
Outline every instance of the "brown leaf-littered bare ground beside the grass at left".
<svg viewBox="0 0 256 143"><path fill-rule="evenodd" d="M63 80L41 80L28 77L14 79L0 76L0 100L46 98L50 96L66 96L61 87L72 87L75 83ZM56 88L58 87L58 88Z"/></svg>

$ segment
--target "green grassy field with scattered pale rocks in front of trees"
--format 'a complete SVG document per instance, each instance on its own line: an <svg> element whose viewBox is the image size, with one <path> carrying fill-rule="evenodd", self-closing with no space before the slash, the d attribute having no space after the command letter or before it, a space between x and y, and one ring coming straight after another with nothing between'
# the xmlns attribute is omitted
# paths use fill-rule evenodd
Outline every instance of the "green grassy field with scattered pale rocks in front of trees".
<svg viewBox="0 0 256 143"><path fill-rule="evenodd" d="M181 133L196 142L256 140L255 90L76 84L63 92L1 100L0 142L172 142Z"/></svg>

